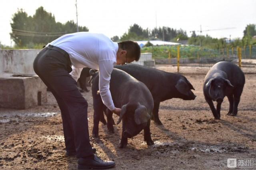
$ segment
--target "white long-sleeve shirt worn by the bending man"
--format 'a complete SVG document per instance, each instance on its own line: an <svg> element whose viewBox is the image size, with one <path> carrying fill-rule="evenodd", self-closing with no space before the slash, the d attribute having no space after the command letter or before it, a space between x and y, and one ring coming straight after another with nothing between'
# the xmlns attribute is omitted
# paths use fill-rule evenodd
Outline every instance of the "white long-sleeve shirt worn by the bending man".
<svg viewBox="0 0 256 170"><path fill-rule="evenodd" d="M110 110L115 106L110 94L110 74L116 64L118 43L112 42L103 34L77 32L66 34L49 43L65 50L72 63L70 75L77 81L84 67L99 70L100 96Z"/></svg>

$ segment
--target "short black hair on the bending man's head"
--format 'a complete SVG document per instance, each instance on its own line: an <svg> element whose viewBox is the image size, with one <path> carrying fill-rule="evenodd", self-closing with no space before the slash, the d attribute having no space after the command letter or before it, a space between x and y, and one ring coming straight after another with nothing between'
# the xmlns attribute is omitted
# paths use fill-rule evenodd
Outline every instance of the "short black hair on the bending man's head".
<svg viewBox="0 0 256 170"><path fill-rule="evenodd" d="M118 42L118 47L127 51L128 58L135 58L135 61L140 59L140 45L133 41L122 41Z"/></svg>

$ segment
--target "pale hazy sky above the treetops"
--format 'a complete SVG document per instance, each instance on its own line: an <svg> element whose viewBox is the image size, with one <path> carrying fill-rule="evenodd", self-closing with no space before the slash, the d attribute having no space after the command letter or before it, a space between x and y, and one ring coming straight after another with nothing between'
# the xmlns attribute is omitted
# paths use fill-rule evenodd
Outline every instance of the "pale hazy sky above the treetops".
<svg viewBox="0 0 256 170"><path fill-rule="evenodd" d="M11 45L10 22L18 8L33 16L43 6L56 22L65 23L76 22L75 4L76 0L1 0L0 42ZM255 9L256 0L77 0L78 25L109 38L122 36L134 23L150 30L181 28L188 36L201 26L202 35L242 38L246 26L256 24Z"/></svg>

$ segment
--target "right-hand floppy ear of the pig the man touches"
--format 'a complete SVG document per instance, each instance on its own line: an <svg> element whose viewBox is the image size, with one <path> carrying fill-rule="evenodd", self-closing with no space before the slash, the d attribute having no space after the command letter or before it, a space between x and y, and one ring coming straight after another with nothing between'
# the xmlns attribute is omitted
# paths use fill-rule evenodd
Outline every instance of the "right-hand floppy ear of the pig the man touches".
<svg viewBox="0 0 256 170"><path fill-rule="evenodd" d="M146 123L150 119L150 115L147 112L147 108L143 105L140 105L134 114L134 121L137 125Z"/></svg>

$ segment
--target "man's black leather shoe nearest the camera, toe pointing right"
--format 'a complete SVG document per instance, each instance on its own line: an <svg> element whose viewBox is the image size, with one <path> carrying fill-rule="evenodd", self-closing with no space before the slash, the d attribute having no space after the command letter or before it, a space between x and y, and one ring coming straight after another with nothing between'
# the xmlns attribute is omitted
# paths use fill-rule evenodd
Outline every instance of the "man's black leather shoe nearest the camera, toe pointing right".
<svg viewBox="0 0 256 170"><path fill-rule="evenodd" d="M109 169L113 168L116 163L112 160L102 160L98 156L94 155L94 159L90 158L79 158L78 159L78 170L87 170L87 169Z"/></svg>

